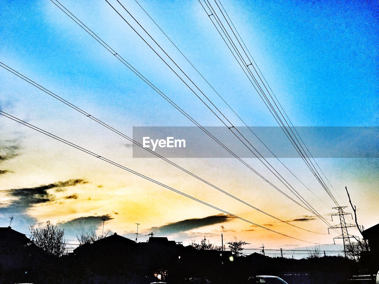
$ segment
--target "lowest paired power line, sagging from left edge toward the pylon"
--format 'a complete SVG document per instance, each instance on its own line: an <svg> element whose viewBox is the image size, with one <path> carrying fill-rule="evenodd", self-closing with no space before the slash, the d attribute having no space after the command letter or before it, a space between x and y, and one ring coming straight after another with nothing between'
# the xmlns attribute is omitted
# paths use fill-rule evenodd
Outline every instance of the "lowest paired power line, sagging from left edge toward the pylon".
<svg viewBox="0 0 379 284"><path fill-rule="evenodd" d="M186 194L186 193L181 192L181 191L179 191L179 190L177 190L177 189L174 189L174 188L172 188L172 187L169 187L169 186L167 186L166 184L160 183L159 181L157 181L157 180L155 180L155 179L152 179L152 178L149 178L148 176L145 176L145 175L143 175L143 174L141 174L141 173L138 173L138 172L136 172L136 171L134 171L134 170L132 170L132 169L130 169L130 168L128 168L128 167L125 167L125 166L123 166L123 165L121 165L121 164L117 164L116 162L111 161L110 159L104 158L104 157L102 157L102 156L100 156L100 155L98 155L98 154L96 154L96 153L93 153L93 152L91 152L91 151L89 151L89 150L87 150L87 149L85 149L85 148L83 148L83 147L80 147L80 146L78 146L78 145L76 145L76 144L74 144L74 143L71 143L71 142L69 142L69 141L67 141L67 140L65 140L65 139L62 139L62 138L60 138L60 137L58 137L58 136L55 136L55 135L52 134L52 133L49 133L49 132L47 132L47 131L45 131L45 130L42 130L41 128L38 128L37 126L34 126L34 125L32 125L32 124L30 124L30 123L27 123L27 122L25 122L25 121L23 121L23 120L21 120L21 119L18 119L17 117L14 117L13 115L10 115L10 114L8 114L8 113L6 113L6 112L4 112L4 111L0 111L0 114L3 115L3 116L5 116L5 117L7 117L7 118L9 118L9 119L11 119L11 120L14 120L15 122L18 122L18 123L20 123L20 124L22 124L22 125L25 125L25 126L31 128L31 129L33 129L33 130L36 130L36 131L38 131L39 133L45 134L46 136L49 136L49 137L51 137L51 138L53 138L53 139L55 139L55 140L58 140L58 141L60 141L60 142L63 142L64 144L67 144L67 145L69 145L69 146L71 146L71 147L73 147L73 148L76 148L76 149L78 149L78 150L80 150L80 151L83 151L83 152L85 152L85 153L87 153L87 154L89 154L89 155L91 155L91 156L94 156L95 158L98 158L98 159L100 159L100 160L102 160L102 161L105 161L105 162L107 162L107 163L109 163L109 164L115 165L116 167L119 167L120 169L126 170L127 172L130 172L130 173L133 173L133 174L135 174L135 175L137 175L137 176L140 176L141 178L144 178L144 179L146 179L146 180L148 180L148 181L151 181L151 182L153 182L153 183L155 183L155 184L158 184L158 185L160 185L160 186L162 186L162 187L164 187L164 188L166 188L166 189L172 190L173 192L179 193L180 195L183 195L184 197L190 198L190 199L192 199L192 200L194 200L194 201L197 201L197 202L199 202L199 203L201 203L201 204L204 204L204 205L206 205L206 206L208 206L208 207L210 207L210 208L216 209L216 210L218 210L218 211L220 211L220 212L222 212L222 213L224 213L224 214L227 214L227 215L230 215L230 216L232 216L232 217L238 218L238 219L240 219L240 220L243 220L244 222L247 222L247 223L250 223L250 224L252 224L252 225L258 226L259 228L262 228L262 229L266 229L266 230L268 230L268 231L270 231L270 232L273 232L273 233L276 233L276 234L279 234L279 235L282 235L282 236L285 236L285 237L289 237L289 238L291 238L291 239L300 240L300 241L302 241L302 242L307 242L307 243L313 243L313 242L309 242L309 241L306 241L306 240L298 239L298 238L296 238L296 237L288 236L288 235L286 235L286 234L280 233L280 232L275 231L275 230L273 230L273 229L266 228L265 226L262 226L262 225L258 225L257 223L254 223L254 222L251 222L251 221L249 221L249 220L246 220L246 219L244 219L244 218L242 218L242 217L239 217L239 216L237 216L237 215L235 215L235 214L232 214L232 213L230 213L230 212L228 212L228 211L225 211L225 210L223 210L223 209L221 209L221 208L218 208L218 207L213 206L213 205L211 205L211 204L209 204L209 203L206 203L205 201L202 201L202 200L200 200L200 199L198 199L198 198L196 198L196 197L193 197L193 196L191 196L191 195L189 195L189 194ZM313 243L313 244L317 244L317 243Z"/></svg>

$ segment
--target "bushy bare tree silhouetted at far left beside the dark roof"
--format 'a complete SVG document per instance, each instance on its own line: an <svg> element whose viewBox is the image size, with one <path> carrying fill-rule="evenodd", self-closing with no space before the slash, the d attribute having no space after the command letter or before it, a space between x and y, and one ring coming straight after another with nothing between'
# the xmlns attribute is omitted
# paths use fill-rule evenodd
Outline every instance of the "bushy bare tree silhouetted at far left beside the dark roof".
<svg viewBox="0 0 379 284"><path fill-rule="evenodd" d="M62 256L65 253L66 240L64 240L64 229L58 229L57 226L50 225L47 222L45 226L41 223L29 227L31 241L42 248L48 254L53 256Z"/></svg>

